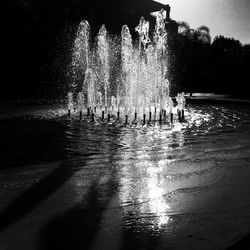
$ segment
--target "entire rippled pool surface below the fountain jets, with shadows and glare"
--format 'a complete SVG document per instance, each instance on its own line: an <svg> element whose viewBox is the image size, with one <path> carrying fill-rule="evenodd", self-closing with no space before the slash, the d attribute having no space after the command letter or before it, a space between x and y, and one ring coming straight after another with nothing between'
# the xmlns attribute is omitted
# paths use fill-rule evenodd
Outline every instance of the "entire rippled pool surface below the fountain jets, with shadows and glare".
<svg viewBox="0 0 250 250"><path fill-rule="evenodd" d="M0 249L226 249L250 232L250 107L114 126L0 121Z"/></svg>

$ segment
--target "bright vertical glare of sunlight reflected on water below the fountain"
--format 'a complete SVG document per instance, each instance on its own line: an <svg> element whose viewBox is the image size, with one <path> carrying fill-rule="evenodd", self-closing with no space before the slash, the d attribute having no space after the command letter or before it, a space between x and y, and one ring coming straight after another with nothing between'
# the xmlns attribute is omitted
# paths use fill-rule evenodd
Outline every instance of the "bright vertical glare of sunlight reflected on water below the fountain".
<svg viewBox="0 0 250 250"><path fill-rule="evenodd" d="M119 198L121 206L130 206L124 209L125 217L126 211L131 213L132 210L137 218L144 218L146 226L159 230L170 222L168 211L171 207L165 195L168 192L166 183L171 181L167 174L168 166L174 160L168 156L173 154L173 143L183 147L184 134L181 128L172 131L155 129L143 135L138 131L131 136L125 133L122 139L123 145L140 148L133 150L133 147L127 147L126 154L120 155Z"/></svg>

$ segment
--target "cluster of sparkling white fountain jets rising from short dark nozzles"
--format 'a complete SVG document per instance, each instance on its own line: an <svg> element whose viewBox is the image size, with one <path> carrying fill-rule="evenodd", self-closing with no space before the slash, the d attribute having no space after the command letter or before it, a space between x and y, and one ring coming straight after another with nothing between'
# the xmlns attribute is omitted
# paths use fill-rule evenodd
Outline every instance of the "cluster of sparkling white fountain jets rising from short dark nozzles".
<svg viewBox="0 0 250 250"><path fill-rule="evenodd" d="M80 119L85 113L92 120L96 116L108 122L142 121L146 125L153 121L162 123L167 117L173 122L176 114L179 121L184 121L184 93L176 97L177 108L169 96L166 11L151 14L156 18L153 38L149 37L149 22L142 17L135 28L137 44L127 25L122 26L119 42L102 25L96 42L91 44L90 25L85 20L80 23L73 50L69 115L77 109ZM116 57L114 50L118 51Z"/></svg>

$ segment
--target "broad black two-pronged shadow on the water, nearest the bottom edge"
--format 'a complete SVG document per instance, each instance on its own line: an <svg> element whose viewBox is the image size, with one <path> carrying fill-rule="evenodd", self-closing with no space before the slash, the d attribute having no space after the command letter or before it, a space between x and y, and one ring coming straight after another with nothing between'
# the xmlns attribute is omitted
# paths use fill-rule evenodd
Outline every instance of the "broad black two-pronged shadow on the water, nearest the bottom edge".
<svg viewBox="0 0 250 250"><path fill-rule="evenodd" d="M105 188L105 198L100 199L103 187L96 180L88 190L84 205L77 205L64 214L53 218L41 230L39 249L77 250L91 248L106 207L117 191L115 176L111 177Z"/></svg>

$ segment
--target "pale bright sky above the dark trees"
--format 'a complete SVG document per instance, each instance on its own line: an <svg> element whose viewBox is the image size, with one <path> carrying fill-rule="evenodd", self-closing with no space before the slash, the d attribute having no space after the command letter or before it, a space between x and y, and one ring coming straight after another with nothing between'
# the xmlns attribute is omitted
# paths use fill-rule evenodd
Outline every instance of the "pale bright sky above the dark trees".
<svg viewBox="0 0 250 250"><path fill-rule="evenodd" d="M192 28L206 25L212 37L224 35L250 43L250 0L156 0L171 6L171 18Z"/></svg>

